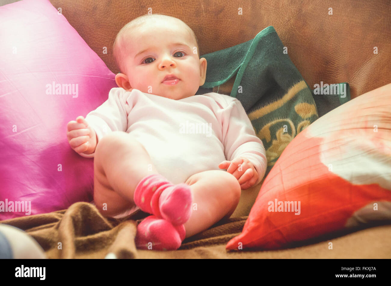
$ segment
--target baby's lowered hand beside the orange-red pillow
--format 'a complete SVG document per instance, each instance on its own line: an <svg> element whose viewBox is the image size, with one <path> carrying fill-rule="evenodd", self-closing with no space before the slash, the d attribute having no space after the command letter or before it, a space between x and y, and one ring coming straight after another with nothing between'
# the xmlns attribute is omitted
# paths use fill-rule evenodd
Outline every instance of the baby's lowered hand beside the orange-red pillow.
<svg viewBox="0 0 391 286"><path fill-rule="evenodd" d="M238 167L239 164L241 165ZM219 168L226 169L228 173L231 173L238 180L242 190L251 188L258 180L258 173L254 165L245 157L238 157L232 161L222 161Z"/></svg>

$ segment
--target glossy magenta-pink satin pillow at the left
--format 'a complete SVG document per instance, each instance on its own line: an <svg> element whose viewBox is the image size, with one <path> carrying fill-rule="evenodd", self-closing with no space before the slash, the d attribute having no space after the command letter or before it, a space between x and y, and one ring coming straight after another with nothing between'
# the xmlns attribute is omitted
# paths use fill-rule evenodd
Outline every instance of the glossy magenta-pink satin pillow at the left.
<svg viewBox="0 0 391 286"><path fill-rule="evenodd" d="M0 6L0 27L0 220L90 202L93 160L66 124L107 100L115 75L48 0Z"/></svg>

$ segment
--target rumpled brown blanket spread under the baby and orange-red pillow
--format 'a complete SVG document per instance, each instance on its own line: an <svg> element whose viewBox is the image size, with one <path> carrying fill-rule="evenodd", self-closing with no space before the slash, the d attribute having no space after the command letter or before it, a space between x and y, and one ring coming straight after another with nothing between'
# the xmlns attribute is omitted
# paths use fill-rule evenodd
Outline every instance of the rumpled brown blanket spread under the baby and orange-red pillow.
<svg viewBox="0 0 391 286"><path fill-rule="evenodd" d="M372 227L342 237L323 237L298 244L297 248L226 251L226 243L242 231L247 216L220 221L184 240L178 250L138 250L134 242L136 225L146 216L149 214L138 210L125 218L106 218L93 204L77 202L66 210L23 216L0 223L26 231L38 241L48 258L104 258L110 252L118 258L391 257L391 225ZM329 241L333 242L332 250L328 249Z"/></svg>

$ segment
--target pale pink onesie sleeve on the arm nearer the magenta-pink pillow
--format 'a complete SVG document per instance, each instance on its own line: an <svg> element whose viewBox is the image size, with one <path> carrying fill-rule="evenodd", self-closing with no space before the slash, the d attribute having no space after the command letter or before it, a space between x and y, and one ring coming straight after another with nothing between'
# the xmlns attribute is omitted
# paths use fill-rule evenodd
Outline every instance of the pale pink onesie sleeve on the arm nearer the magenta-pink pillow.
<svg viewBox="0 0 391 286"><path fill-rule="evenodd" d="M95 130L98 141L109 132L125 131L127 129L126 97L129 93L121 92L120 89L111 89L109 98L97 109L86 115L86 121ZM82 157L91 158L92 154L78 153Z"/></svg>

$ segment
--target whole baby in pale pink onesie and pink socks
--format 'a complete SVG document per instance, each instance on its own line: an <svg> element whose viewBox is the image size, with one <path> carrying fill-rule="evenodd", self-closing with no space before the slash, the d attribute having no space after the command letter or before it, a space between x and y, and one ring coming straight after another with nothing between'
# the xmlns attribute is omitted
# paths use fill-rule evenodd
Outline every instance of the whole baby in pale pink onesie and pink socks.
<svg viewBox="0 0 391 286"><path fill-rule="evenodd" d="M150 213L137 227L136 247L175 250L232 215L241 189L264 177L265 148L239 100L195 95L206 59L183 21L138 17L118 32L113 54L118 88L85 119L68 123L68 141L95 158L94 203L102 215Z"/></svg>

